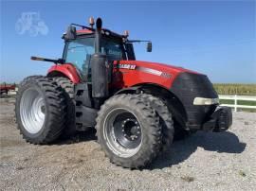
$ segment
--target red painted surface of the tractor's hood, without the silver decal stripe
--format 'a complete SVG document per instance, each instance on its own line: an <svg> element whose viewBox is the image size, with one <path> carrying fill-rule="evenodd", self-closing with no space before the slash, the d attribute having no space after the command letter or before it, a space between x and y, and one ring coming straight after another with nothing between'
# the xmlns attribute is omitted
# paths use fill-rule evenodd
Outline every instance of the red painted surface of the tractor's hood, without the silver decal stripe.
<svg viewBox="0 0 256 191"><path fill-rule="evenodd" d="M114 64L117 64L117 62L118 61L115 61ZM140 67L155 69L171 75L171 78L156 76L154 74L149 74L139 70L114 69L113 86L118 88L131 87L142 83L154 83L170 89L178 74L183 72L198 74L185 68L149 61L119 61L119 64L132 64Z"/></svg>

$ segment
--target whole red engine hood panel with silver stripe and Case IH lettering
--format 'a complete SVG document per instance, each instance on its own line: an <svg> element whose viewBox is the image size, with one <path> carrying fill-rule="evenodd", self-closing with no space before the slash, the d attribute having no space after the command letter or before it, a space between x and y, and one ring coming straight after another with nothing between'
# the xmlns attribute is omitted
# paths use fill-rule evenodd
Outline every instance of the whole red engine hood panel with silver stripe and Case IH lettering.
<svg viewBox="0 0 256 191"><path fill-rule="evenodd" d="M130 87L151 83L170 89L180 74L201 74L182 67L150 61L114 61L114 83Z"/></svg>

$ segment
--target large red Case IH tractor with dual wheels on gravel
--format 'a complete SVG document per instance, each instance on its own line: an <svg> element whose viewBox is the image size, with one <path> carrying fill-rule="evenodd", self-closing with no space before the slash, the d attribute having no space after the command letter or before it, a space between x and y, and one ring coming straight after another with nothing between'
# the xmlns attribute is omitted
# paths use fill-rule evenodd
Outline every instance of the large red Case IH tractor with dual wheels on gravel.
<svg viewBox="0 0 256 191"><path fill-rule="evenodd" d="M25 78L16 96L16 121L27 142L96 128L110 161L149 165L174 137L196 130L228 130L231 110L220 107L207 76L168 64L137 61L128 32L71 24L59 60L46 76ZM77 30L76 27L82 27ZM152 43L147 42L151 52Z"/></svg>

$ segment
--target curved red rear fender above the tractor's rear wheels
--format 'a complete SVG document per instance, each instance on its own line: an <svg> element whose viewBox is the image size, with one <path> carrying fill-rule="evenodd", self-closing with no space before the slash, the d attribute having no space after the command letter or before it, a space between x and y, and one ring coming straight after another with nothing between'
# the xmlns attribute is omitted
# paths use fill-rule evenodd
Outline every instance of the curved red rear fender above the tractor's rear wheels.
<svg viewBox="0 0 256 191"><path fill-rule="evenodd" d="M48 70L48 75L52 72L60 72L64 74L67 78L69 78L74 83L80 82L80 77L77 73L76 68L71 63L64 63L61 65L53 65Z"/></svg>

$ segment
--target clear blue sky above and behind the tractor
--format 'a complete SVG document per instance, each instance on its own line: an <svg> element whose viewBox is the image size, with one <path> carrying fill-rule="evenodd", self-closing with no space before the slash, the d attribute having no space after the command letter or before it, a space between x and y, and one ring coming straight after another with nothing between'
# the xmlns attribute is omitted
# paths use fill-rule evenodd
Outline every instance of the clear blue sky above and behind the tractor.
<svg viewBox="0 0 256 191"><path fill-rule="evenodd" d="M182 66L206 74L214 83L256 83L256 1L0 3L1 82L46 75L51 63L30 61L30 56L61 58L66 27L87 25L93 16L101 17L105 28L129 30L130 39L151 40L151 53L144 43L136 44L138 61ZM22 19L31 12L37 20ZM23 28L18 27L22 22Z"/></svg>

